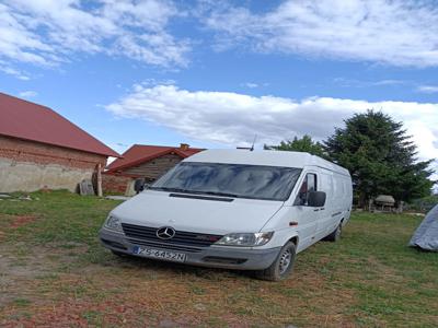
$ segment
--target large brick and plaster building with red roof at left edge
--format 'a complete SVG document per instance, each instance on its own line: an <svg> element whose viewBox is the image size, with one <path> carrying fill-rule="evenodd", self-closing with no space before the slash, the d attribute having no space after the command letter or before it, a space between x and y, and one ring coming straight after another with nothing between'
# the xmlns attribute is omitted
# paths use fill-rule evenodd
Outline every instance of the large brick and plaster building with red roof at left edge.
<svg viewBox="0 0 438 328"><path fill-rule="evenodd" d="M53 109L0 93L0 192L74 191L115 151Z"/></svg>

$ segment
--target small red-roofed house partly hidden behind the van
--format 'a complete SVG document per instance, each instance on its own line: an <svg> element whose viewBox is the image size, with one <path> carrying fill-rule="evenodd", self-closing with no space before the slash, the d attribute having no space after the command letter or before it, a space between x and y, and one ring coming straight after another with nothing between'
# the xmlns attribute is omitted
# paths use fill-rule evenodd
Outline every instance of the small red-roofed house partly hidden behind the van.
<svg viewBox="0 0 438 328"><path fill-rule="evenodd" d="M200 151L203 149L191 148L186 143L180 147L135 144L106 167L102 176L103 190L132 195L137 178L153 183L182 160Z"/></svg>

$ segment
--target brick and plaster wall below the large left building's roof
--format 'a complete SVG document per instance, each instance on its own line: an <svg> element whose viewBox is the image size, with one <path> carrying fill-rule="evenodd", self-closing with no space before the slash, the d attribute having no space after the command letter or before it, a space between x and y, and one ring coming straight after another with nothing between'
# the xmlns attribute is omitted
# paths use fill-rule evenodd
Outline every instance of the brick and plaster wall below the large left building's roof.
<svg viewBox="0 0 438 328"><path fill-rule="evenodd" d="M0 136L0 192L41 188L74 191L78 183L92 178L103 155Z"/></svg>

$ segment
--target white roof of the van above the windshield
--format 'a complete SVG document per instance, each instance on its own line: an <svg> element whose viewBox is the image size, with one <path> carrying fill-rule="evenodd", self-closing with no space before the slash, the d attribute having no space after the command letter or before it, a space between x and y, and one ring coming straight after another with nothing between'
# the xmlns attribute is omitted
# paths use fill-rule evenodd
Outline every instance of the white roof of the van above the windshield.
<svg viewBox="0 0 438 328"><path fill-rule="evenodd" d="M298 168L303 168L304 166L319 166L349 176L348 169L319 156L303 152L212 149L199 152L184 160L184 162L249 164Z"/></svg>

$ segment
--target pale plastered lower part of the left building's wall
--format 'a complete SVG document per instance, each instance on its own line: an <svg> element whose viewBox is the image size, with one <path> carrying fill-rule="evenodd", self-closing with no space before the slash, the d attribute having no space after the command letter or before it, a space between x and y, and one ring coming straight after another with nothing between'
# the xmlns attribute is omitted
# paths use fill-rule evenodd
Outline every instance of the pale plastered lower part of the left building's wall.
<svg viewBox="0 0 438 328"><path fill-rule="evenodd" d="M0 157L0 192L35 191L44 187L76 191L78 184L91 179L92 169L14 162Z"/></svg>

